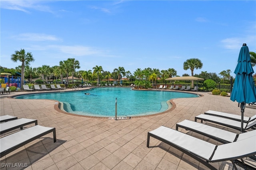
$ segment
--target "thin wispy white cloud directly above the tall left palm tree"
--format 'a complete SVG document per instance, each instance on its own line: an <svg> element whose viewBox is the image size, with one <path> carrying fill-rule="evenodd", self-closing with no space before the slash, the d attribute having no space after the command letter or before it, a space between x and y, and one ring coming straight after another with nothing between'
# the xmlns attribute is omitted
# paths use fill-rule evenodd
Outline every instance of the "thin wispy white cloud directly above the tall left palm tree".
<svg viewBox="0 0 256 170"><path fill-rule="evenodd" d="M14 36L18 40L27 41L59 41L60 39L53 35L38 34L38 33L23 33L18 36Z"/></svg>

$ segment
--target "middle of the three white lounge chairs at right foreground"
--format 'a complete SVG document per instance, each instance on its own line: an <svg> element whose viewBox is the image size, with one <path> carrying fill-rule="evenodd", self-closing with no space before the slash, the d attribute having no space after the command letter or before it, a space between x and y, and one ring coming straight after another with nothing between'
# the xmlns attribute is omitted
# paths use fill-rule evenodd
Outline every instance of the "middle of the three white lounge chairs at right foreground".
<svg viewBox="0 0 256 170"><path fill-rule="evenodd" d="M209 138L212 138L222 143L236 142L239 140L244 140L244 138L256 136L256 130L252 130L252 131L241 133L241 134L236 134L227 130L223 130L220 128L208 126L203 123L198 123L198 122L189 121L189 120L184 120L182 122L177 123L176 130L178 130L179 127L202 134L204 136L207 136Z"/></svg>

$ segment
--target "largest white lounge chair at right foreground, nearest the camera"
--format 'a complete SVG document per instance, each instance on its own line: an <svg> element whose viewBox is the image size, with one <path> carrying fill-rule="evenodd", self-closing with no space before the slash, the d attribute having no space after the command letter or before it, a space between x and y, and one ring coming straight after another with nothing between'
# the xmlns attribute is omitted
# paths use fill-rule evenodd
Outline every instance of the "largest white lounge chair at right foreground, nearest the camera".
<svg viewBox="0 0 256 170"><path fill-rule="evenodd" d="M241 162L237 159L242 159L256 154L256 136L216 146L215 144L200 140L172 128L161 126L148 132L148 148L150 136L184 152L211 170L217 170L217 168L212 166L209 162L230 160L236 168L236 163L238 164L238 162L240 163L239 166L243 166L243 161ZM250 168L250 166L246 165L244 168Z"/></svg>

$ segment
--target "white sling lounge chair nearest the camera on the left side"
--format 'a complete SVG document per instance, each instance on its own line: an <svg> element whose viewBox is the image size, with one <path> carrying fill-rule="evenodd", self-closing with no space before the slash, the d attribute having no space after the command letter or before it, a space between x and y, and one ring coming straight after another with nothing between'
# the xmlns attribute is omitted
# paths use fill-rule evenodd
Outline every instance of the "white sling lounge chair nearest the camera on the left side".
<svg viewBox="0 0 256 170"><path fill-rule="evenodd" d="M0 138L0 158L50 132L53 132L53 139L56 142L55 128L42 127L40 125L26 128Z"/></svg>

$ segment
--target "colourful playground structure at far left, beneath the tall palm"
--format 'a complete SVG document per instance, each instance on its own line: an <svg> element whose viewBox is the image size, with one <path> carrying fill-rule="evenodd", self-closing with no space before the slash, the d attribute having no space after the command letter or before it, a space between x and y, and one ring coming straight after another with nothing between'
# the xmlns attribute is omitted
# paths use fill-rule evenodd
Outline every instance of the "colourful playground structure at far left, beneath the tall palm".
<svg viewBox="0 0 256 170"><path fill-rule="evenodd" d="M20 74L20 73L18 73ZM4 83L1 83L0 87L10 87L15 86L16 88L21 87L21 77L14 77L10 73L1 73L0 78L4 79Z"/></svg>

